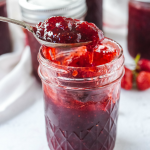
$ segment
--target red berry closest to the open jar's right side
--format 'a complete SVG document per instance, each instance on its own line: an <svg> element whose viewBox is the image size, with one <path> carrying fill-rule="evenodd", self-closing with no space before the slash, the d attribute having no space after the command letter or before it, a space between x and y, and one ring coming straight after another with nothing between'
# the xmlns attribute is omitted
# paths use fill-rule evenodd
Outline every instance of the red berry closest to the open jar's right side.
<svg viewBox="0 0 150 150"><path fill-rule="evenodd" d="M132 70L125 67L125 74L121 80L121 87L130 90L132 89L132 82L133 82L133 72Z"/></svg>

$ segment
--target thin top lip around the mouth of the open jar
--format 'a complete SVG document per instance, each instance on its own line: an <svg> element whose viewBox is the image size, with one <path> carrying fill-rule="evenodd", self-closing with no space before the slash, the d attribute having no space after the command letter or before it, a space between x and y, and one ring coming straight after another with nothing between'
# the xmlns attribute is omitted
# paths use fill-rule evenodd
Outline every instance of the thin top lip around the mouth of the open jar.
<svg viewBox="0 0 150 150"><path fill-rule="evenodd" d="M117 44L117 46L118 46L118 48L120 49L120 54L119 54L119 56L116 58L116 59L114 59L114 60L112 60L111 62L108 62L108 63L105 63L105 64L102 64L102 65L98 65L98 66L95 66L95 67L90 67L90 68L101 68L101 67L103 67L103 66L106 66L106 65L111 65L112 63L115 63L117 60L119 60L122 56L123 56L123 48L122 48L122 46L119 44L119 43L117 43L116 41L114 41L114 40L112 40L112 39L110 39L110 38L107 38L107 37L105 37L105 39L107 39L107 40L110 40L110 41L112 41L112 42L114 42L115 44ZM38 61L39 62L42 62L42 64L44 65L44 66L46 66L46 67L48 67L48 66L53 66L53 67L56 67L56 68L60 68L60 67L63 67L63 68L68 68L68 69L79 69L79 68L82 68L82 69L86 69L86 68L89 68L89 67L73 67L73 66L64 66L64 65L59 65L59 64L56 64L56 63L54 63L54 62L52 62L52 61L50 61L50 60L48 60L48 59L45 59L42 55L41 55L41 47L40 47L40 49L39 49L39 53L38 53Z"/></svg>

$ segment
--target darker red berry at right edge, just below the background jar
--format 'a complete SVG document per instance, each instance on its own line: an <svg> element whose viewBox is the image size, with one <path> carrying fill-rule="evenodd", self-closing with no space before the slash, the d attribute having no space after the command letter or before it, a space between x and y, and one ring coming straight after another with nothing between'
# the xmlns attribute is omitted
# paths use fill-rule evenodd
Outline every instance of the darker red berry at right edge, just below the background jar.
<svg viewBox="0 0 150 150"><path fill-rule="evenodd" d="M137 64L138 71L147 71L150 72L150 60L141 59Z"/></svg>

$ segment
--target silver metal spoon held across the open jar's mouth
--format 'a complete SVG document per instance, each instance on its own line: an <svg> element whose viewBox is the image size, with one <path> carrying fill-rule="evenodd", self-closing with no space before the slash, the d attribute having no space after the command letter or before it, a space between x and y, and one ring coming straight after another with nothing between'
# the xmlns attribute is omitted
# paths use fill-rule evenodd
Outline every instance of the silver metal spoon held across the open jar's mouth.
<svg viewBox="0 0 150 150"><path fill-rule="evenodd" d="M1 17L1 16L0 16L0 21L10 22L10 23L22 26L23 28L25 28L28 31L30 31L41 45L45 45L47 47L53 47L53 48L72 48L72 47L85 46L85 45L88 45L89 43L91 43L91 41L89 41L89 42L80 42L80 43L67 43L67 44L66 43L52 43L52 42L47 42L47 41L39 39L36 36L36 34L34 33L33 27L30 26L27 23L24 23L23 21L19 21L19 20L15 20L15 19L10 19L10 18L6 18L6 17Z"/></svg>

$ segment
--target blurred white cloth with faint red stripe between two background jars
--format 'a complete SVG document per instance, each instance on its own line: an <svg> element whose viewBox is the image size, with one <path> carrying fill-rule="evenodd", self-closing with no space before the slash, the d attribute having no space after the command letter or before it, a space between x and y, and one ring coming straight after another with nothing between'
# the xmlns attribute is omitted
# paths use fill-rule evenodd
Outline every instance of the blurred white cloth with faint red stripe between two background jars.
<svg viewBox="0 0 150 150"><path fill-rule="evenodd" d="M129 0L104 0L103 1L103 30L105 36L127 35Z"/></svg>

